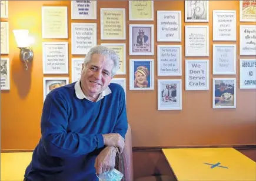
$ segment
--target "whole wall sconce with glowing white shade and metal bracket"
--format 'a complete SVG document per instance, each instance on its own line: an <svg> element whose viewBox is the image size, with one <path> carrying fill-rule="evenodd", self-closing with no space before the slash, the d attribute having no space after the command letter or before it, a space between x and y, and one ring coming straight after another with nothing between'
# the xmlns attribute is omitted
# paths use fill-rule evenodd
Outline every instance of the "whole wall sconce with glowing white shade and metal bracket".
<svg viewBox="0 0 256 181"><path fill-rule="evenodd" d="M12 32L14 32L15 40L18 45L17 48L20 49L19 56L21 61L25 62L27 71L28 63L32 61L34 56L32 48L30 47L33 39L28 36L28 29L14 29Z"/></svg>

